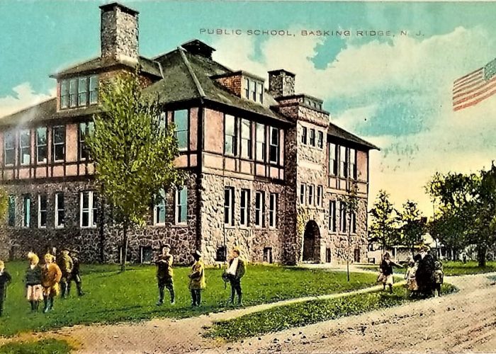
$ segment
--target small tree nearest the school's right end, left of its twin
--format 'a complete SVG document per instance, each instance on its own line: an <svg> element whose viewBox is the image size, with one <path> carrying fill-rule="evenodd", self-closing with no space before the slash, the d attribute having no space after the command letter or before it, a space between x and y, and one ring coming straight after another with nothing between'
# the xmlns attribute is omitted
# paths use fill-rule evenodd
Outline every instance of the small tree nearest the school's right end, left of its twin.
<svg viewBox="0 0 496 354"><path fill-rule="evenodd" d="M370 210L371 236L381 242L383 252L398 241L396 210L389 200L389 194L380 190Z"/></svg>

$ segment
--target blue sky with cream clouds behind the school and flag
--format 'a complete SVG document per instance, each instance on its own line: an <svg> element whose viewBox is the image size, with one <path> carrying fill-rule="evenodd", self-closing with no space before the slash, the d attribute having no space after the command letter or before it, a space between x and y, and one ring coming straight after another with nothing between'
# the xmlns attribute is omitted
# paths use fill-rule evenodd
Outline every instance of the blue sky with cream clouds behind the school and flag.
<svg viewBox="0 0 496 354"><path fill-rule="evenodd" d="M103 1L0 1L0 115L53 93L48 77L99 54ZM474 171L496 156L496 97L453 113L451 84L496 57L496 3L123 1L140 11L140 52L191 38L232 69L283 67L297 90L323 98L332 120L381 146L371 154L372 197L417 200L434 171ZM201 28L241 29L208 35ZM288 30L295 37L249 36ZM395 36L302 36L301 30L390 30ZM406 30L408 35L400 35ZM416 33L422 33L417 36ZM404 181L409 188L405 190Z"/></svg>

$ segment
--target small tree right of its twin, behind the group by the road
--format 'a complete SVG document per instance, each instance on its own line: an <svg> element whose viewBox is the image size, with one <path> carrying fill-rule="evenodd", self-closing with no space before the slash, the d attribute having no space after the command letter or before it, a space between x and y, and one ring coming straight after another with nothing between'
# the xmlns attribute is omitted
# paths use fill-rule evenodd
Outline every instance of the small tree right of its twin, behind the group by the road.
<svg viewBox="0 0 496 354"><path fill-rule="evenodd" d="M412 256L415 253L415 245L422 242L422 235L426 231L427 219L422 217L422 213L417 207L417 203L407 200L403 204L402 211L398 212L400 227L400 239L402 244L410 247Z"/></svg>

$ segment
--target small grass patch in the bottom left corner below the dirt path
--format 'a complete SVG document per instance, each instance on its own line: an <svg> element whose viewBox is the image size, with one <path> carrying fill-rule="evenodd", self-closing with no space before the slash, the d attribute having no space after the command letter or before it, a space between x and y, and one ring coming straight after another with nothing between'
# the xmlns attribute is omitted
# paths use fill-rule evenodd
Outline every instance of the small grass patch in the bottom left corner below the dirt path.
<svg viewBox="0 0 496 354"><path fill-rule="evenodd" d="M7 343L0 347L0 354L67 354L72 349L66 341L50 338Z"/></svg>

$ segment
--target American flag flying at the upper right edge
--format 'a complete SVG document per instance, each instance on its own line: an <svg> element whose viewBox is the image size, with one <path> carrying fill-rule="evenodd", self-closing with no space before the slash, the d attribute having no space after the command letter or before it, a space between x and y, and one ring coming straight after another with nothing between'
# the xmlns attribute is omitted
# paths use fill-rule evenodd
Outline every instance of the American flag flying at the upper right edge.
<svg viewBox="0 0 496 354"><path fill-rule="evenodd" d="M496 59L453 82L453 110L476 105L496 93Z"/></svg>

